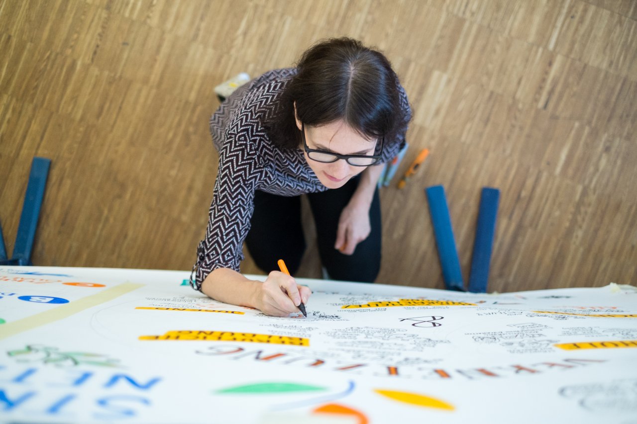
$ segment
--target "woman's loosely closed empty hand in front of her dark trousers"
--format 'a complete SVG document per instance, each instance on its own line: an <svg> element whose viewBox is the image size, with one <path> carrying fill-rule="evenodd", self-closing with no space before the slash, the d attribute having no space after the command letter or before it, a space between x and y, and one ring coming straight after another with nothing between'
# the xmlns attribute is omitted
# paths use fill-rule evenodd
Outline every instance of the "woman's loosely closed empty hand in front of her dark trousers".
<svg viewBox="0 0 637 424"><path fill-rule="evenodd" d="M352 255L357 244L366 239L370 232L369 204L352 199L341 212L334 248L343 255Z"/></svg>

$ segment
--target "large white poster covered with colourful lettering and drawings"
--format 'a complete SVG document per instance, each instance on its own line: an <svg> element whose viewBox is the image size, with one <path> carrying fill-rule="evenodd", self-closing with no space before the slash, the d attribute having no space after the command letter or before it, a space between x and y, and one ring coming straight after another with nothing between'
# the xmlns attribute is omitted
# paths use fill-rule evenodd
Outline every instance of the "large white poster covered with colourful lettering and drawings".
<svg viewBox="0 0 637 424"><path fill-rule="evenodd" d="M307 318L274 318L187 278L1 268L0 421L637 423L633 286L299 279Z"/></svg>

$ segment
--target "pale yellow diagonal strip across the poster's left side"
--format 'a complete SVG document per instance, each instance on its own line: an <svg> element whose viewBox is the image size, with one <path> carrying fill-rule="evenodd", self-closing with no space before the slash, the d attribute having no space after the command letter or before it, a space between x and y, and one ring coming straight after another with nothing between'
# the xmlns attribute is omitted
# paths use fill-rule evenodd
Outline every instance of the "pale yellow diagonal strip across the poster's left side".
<svg viewBox="0 0 637 424"><path fill-rule="evenodd" d="M82 299L74 300L68 304L55 307L55 309L48 309L48 311L33 314L31 316L27 316L27 318L7 323L6 327L3 327L2 334L0 334L0 340L6 337L15 336L15 334L23 331L32 330L41 325L63 320L73 314L89 309L89 307L108 302L109 300L120 297L125 293L137 290L141 286L143 285L136 283L119 284L117 286L106 288L106 290L94 295L83 297Z"/></svg>

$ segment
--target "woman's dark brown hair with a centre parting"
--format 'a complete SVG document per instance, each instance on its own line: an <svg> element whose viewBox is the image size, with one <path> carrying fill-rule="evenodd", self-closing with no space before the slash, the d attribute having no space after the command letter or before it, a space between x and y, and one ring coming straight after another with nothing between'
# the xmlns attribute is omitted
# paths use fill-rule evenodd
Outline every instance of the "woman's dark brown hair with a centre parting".
<svg viewBox="0 0 637 424"><path fill-rule="evenodd" d="M266 124L280 148L301 142L295 102L305 125L344 120L361 136L387 141L404 131L408 118L401 110L398 77L382 53L355 39L327 39L304 52L296 68Z"/></svg>

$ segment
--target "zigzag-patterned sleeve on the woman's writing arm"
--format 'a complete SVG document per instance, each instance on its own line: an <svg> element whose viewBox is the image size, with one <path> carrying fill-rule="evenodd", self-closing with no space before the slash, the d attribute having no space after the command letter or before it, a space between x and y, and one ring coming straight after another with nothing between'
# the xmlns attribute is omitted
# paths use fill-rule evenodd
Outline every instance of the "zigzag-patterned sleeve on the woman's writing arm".
<svg viewBox="0 0 637 424"><path fill-rule="evenodd" d="M237 128L241 131L236 131ZM254 211L254 191L265 172L257 160L254 143L250 142L250 136L254 136L251 128L249 123L236 122L226 131L227 142L219 152L206 237L197 248L194 281L197 290L201 290L201 283L215 269L239 271L244 258L243 241Z"/></svg>

